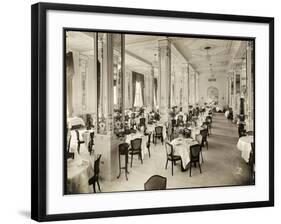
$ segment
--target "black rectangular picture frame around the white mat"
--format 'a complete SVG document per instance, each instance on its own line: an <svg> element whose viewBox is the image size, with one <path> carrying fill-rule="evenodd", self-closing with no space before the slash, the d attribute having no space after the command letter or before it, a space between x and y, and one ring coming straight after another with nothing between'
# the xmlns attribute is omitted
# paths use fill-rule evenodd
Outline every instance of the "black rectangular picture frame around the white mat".
<svg viewBox="0 0 281 224"><path fill-rule="evenodd" d="M47 88L46 88L46 13L48 10L85 13L189 18L229 22L252 22L269 25L269 200L241 203L208 204L159 208L139 208L101 212L52 214L46 213L46 145L47 145ZM74 220L86 218L178 213L206 210L238 209L274 206L274 18L183 11L164 11L136 8L89 5L37 3L31 7L31 218L37 221Z"/></svg>

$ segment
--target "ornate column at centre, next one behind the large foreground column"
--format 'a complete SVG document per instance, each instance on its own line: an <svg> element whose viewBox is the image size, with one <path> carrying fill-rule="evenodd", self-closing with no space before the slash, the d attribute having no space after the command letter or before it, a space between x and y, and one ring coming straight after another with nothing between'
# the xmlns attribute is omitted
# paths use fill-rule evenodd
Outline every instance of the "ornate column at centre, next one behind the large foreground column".
<svg viewBox="0 0 281 224"><path fill-rule="evenodd" d="M169 39L158 41L159 46L159 77L161 120L168 121L168 110L171 107L171 42Z"/></svg>

